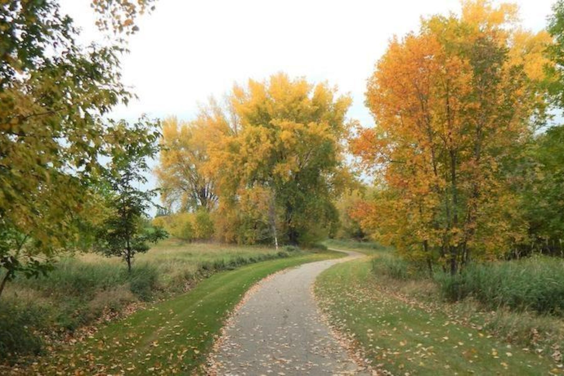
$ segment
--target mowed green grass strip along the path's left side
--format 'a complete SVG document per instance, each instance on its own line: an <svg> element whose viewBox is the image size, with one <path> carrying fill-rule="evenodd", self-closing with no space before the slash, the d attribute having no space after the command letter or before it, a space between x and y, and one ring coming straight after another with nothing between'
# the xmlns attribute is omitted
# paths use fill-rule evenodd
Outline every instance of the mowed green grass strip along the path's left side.
<svg viewBox="0 0 564 376"><path fill-rule="evenodd" d="M203 364L214 335L249 287L281 269L342 255L307 253L217 273L188 293L115 321L23 373L191 373Z"/></svg>

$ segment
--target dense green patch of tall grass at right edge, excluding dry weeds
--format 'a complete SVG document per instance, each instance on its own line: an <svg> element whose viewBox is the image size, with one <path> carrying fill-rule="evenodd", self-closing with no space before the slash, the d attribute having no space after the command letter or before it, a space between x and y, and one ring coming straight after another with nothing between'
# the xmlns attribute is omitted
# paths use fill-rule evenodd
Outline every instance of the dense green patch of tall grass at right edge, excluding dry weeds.
<svg viewBox="0 0 564 376"><path fill-rule="evenodd" d="M517 311L564 316L564 261L561 259L535 257L475 264L454 277L439 273L435 280L448 300L472 296L492 309L505 306Z"/></svg>

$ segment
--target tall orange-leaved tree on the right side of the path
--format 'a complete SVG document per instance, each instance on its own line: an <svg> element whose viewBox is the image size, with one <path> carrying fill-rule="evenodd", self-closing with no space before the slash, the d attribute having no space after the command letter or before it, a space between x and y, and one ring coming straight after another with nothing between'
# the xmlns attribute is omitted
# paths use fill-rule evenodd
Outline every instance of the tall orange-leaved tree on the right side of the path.
<svg viewBox="0 0 564 376"><path fill-rule="evenodd" d="M376 127L352 143L380 178L359 220L453 274L526 236L511 163L543 118L550 38L520 29L515 10L464 2L460 17L433 16L394 38L368 82Z"/></svg>

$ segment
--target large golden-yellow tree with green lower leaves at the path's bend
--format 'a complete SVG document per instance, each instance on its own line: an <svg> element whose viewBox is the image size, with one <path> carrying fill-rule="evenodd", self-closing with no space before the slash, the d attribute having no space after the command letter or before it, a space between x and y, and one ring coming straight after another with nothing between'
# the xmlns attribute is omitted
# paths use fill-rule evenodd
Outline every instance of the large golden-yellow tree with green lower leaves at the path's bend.
<svg viewBox="0 0 564 376"><path fill-rule="evenodd" d="M270 227L280 228L285 241L326 235L337 220L332 200L349 177L342 140L351 99L336 97L325 84L280 73L235 86L228 100L237 123L210 148L220 200L236 201L245 189L267 189L268 213L280 216L270 219Z"/></svg>

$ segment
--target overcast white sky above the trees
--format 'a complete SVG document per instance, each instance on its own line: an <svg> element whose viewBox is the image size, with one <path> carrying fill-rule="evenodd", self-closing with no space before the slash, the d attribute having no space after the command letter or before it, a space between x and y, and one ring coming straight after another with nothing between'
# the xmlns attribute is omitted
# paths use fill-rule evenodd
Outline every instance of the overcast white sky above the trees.
<svg viewBox="0 0 564 376"><path fill-rule="evenodd" d="M554 1L517 1L523 24L544 28ZM90 2L61 0L85 41L98 34ZM139 100L114 116L188 120L199 102L221 97L234 82L283 71L350 92L349 116L371 123L365 82L387 41L417 29L422 15L449 11L460 11L458 0L158 0L155 12L140 20L122 64Z"/></svg>

